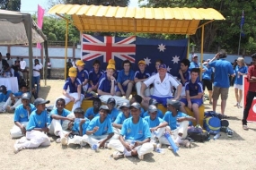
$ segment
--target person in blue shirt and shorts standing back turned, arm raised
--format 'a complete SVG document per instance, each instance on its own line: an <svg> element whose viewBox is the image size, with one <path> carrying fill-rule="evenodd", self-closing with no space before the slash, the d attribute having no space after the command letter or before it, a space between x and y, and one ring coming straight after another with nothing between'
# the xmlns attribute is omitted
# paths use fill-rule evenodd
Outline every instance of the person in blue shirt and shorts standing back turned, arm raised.
<svg viewBox="0 0 256 170"><path fill-rule="evenodd" d="M234 77L232 64L225 60L226 54L221 50L208 63L209 66L215 68L214 89L213 89L213 111L216 112L216 103L219 95L221 95L221 114L225 115L226 99L228 97L228 89L230 86L228 75ZM217 60L216 60L217 59ZM214 61L216 60L216 61Z"/></svg>

